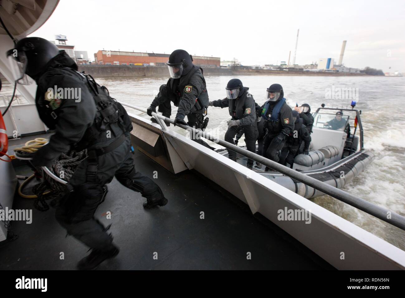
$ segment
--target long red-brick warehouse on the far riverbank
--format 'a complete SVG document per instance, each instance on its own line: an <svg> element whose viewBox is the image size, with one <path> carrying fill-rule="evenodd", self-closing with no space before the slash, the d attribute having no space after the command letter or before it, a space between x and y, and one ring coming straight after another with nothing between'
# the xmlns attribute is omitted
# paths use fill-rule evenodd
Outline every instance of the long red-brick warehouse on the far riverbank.
<svg viewBox="0 0 405 298"><path fill-rule="evenodd" d="M105 65L164 65L169 54L138 53L124 51L98 51L94 54L97 64ZM221 59L218 57L193 56L195 65L220 67Z"/></svg>

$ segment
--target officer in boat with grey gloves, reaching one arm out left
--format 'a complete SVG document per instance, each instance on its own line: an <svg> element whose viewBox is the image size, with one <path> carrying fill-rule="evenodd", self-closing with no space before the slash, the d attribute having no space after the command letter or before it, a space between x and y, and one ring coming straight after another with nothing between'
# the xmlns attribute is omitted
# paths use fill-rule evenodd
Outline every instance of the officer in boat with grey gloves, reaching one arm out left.
<svg viewBox="0 0 405 298"><path fill-rule="evenodd" d="M229 120L228 130L225 133L225 141L235 144L233 138L242 129L245 133L247 150L256 153L256 139L258 137L256 123L256 108L252 94L248 87L243 87L240 79L231 79L226 85L226 98L217 101L210 101L213 107L227 107L232 120ZM236 161L236 153L228 149L228 156ZM248 159L247 167L252 169L253 161Z"/></svg>

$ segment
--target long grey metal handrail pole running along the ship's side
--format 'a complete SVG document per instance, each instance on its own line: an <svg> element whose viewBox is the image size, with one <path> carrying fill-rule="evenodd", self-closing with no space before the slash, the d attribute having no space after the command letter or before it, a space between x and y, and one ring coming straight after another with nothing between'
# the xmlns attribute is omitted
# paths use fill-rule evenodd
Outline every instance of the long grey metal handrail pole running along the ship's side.
<svg viewBox="0 0 405 298"><path fill-rule="evenodd" d="M120 102L120 103L127 107L131 107L132 109L136 109L136 110L143 111L144 113L146 113L145 110L139 109L138 107L135 107L134 105L129 105L127 103L122 103L122 102ZM154 113L152 113L152 115L153 114ZM157 115L157 116L159 118L165 120L166 122L170 122L170 123L174 124L174 121L171 120L170 118L166 118L166 117L160 116L160 115ZM249 159L253 159L254 161L257 161L258 163L261 163L267 167L275 169L277 172L280 172L281 174L284 174L290 178L298 180L299 182L307 184L310 187L313 187L314 189L321 191L322 193L326 193L327 195L330 195L331 197L338 199L339 201L349 204L350 206L353 206L368 214L371 214L371 215L377 217L378 219L381 219L382 221L385 221L387 223L390 223L391 225L399 227L402 230L405 230L405 217L401 216L400 214L398 214L396 212L393 212L386 208L374 205L360 197L356 197L355 195L347 193L341 189L333 187L329 184L326 184L322 181L319 181L315 178L312 178L312 177L302 174L300 172L297 172L293 169L290 169L289 167L276 163L275 161L271 161L270 159L262 157L256 153L253 153L246 149L240 148L234 144L230 144L227 141L214 138L211 135L209 135L208 133L201 131L200 129L194 129L193 127L190 127L188 125L183 125L183 124L177 124L177 126L181 127L182 129L187 129L187 130L190 130L190 128L191 128L194 133L196 133L196 134L198 133L200 136L204 137L205 139L209 139L210 141L218 143L227 149L237 152ZM390 217L390 219L388 219L388 217Z"/></svg>

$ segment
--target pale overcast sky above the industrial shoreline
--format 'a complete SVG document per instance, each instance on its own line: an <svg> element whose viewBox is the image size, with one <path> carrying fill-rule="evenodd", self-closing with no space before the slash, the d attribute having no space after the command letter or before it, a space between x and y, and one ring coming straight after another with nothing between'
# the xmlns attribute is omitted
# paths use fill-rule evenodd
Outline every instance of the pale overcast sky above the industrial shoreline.
<svg viewBox="0 0 405 298"><path fill-rule="evenodd" d="M100 49L237 58L244 65L334 58L343 64L405 72L405 1L124 1L60 0L30 36L87 51ZM391 67L391 69L389 69Z"/></svg>

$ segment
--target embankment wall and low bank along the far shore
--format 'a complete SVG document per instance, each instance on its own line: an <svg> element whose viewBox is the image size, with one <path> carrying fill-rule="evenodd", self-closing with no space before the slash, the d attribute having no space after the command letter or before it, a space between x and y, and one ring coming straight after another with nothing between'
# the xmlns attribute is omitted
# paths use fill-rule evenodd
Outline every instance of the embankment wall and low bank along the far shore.
<svg viewBox="0 0 405 298"><path fill-rule="evenodd" d="M303 76L365 76L363 73L328 73L312 71L274 71L268 69L247 69L237 67L235 69L226 68L204 68L204 75L303 75ZM90 73L93 77L157 77L169 76L166 66L127 66L127 65L79 65L79 71Z"/></svg>

